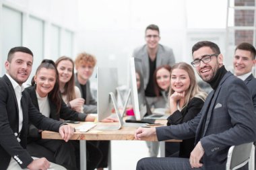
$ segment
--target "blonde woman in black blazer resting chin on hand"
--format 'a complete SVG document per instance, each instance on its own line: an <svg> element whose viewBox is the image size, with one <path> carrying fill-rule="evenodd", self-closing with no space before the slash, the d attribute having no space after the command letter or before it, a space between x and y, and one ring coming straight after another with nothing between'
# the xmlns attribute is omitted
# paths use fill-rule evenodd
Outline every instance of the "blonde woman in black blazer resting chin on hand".
<svg viewBox="0 0 256 170"><path fill-rule="evenodd" d="M197 85L195 73L190 65L185 62L174 65L170 71L168 95L170 116L167 125L182 124L195 118L201 111L206 96L207 94ZM195 138L183 140L180 143L179 157L189 158L194 142ZM168 142L166 142L166 150L168 151Z"/></svg>

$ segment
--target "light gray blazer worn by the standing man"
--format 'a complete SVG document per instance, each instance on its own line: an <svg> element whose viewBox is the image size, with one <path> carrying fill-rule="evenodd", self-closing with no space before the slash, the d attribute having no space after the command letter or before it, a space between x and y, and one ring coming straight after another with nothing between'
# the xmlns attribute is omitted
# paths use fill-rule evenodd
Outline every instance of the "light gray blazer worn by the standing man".
<svg viewBox="0 0 256 170"><path fill-rule="evenodd" d="M136 48L133 52L134 58L139 58L141 62L141 75L143 76L144 82L144 89L146 89L148 85L148 81L150 79L150 66L149 66L149 57L148 57L148 50L147 45L143 45L139 48ZM156 68L160 67L161 65L174 65L175 58L171 48L167 46L163 46L158 44L158 52L156 54Z"/></svg>

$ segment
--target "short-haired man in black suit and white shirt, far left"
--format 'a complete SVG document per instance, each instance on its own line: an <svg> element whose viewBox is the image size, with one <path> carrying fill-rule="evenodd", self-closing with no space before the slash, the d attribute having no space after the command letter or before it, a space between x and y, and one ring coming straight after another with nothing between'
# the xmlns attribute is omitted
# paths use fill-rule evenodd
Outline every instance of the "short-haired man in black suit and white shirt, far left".
<svg viewBox="0 0 256 170"><path fill-rule="evenodd" d="M11 48L5 62L6 74L0 79L0 169L64 169L45 158L32 159L26 151L28 121L42 130L59 132L67 142L71 126L42 116L24 91L32 70L33 54L26 47Z"/></svg>

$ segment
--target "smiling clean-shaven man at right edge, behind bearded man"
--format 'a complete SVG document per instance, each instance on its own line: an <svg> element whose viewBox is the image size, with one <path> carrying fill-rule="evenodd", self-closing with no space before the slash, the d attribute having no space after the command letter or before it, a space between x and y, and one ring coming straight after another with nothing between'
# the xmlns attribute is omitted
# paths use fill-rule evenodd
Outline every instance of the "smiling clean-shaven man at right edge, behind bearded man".
<svg viewBox="0 0 256 170"><path fill-rule="evenodd" d="M233 67L234 75L242 79L247 85L256 110L256 79L251 73L256 63L255 55L256 50L252 44L247 42L239 44L234 52Z"/></svg>

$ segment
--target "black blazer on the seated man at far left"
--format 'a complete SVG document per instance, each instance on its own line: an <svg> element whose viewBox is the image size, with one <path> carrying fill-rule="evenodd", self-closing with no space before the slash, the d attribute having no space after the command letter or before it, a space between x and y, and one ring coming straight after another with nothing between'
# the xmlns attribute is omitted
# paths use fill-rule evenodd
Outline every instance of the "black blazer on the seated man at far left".
<svg viewBox="0 0 256 170"><path fill-rule="evenodd" d="M18 142L19 109L15 91L6 75L0 78L0 169L7 169L11 157L18 165L26 168L32 157L26 151L28 121L42 130L59 132L61 122L46 118L32 104L29 94L22 92L23 122Z"/></svg>

